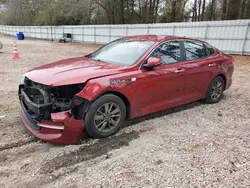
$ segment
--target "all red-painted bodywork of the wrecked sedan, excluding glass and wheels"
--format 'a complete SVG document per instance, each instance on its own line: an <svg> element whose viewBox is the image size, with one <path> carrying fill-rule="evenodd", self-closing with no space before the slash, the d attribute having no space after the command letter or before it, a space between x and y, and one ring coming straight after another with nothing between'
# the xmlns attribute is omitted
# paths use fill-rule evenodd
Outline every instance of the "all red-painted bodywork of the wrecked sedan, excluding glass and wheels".
<svg viewBox="0 0 250 188"><path fill-rule="evenodd" d="M86 82L86 86L77 96L89 101L94 101L106 92L122 94L130 103L129 118L203 99L209 83L218 75L225 77L225 89L231 86L233 58L217 49L213 56L207 58L161 65L152 70L141 68L145 58L164 41L199 40L155 35L125 37L125 39L150 40L155 44L136 64L130 67L80 57L43 65L27 72L26 76L35 82L50 86ZM158 61L159 59L155 58L151 63L155 64ZM210 66L210 64L214 64L214 66ZM131 78L135 80L129 83L124 81ZM115 83L114 80L121 82ZM83 122L69 118L65 113L53 115L53 118L60 119L59 122L64 124L63 132L46 129L35 132L29 126L27 127L34 135L43 140L67 144L77 143L76 140L79 139L82 132ZM53 122L50 123L53 124Z"/></svg>

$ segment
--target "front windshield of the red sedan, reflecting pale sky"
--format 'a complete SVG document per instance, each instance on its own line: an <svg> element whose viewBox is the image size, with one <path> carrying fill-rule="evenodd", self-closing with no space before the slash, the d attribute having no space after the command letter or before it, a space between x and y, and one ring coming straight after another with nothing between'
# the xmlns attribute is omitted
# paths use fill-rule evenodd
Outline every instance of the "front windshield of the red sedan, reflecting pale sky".
<svg viewBox="0 0 250 188"><path fill-rule="evenodd" d="M89 58L112 64L135 64L154 44L152 41L116 40L90 54Z"/></svg>

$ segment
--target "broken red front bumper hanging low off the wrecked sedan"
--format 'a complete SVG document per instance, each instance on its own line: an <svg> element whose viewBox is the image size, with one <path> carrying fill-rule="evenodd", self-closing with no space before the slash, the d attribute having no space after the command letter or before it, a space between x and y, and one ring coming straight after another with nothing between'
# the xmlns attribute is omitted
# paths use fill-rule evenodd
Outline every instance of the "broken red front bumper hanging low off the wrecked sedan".
<svg viewBox="0 0 250 188"><path fill-rule="evenodd" d="M51 121L32 119L21 102L20 117L26 128L37 138L55 144L79 144L83 120L69 116L69 112L52 113Z"/></svg>

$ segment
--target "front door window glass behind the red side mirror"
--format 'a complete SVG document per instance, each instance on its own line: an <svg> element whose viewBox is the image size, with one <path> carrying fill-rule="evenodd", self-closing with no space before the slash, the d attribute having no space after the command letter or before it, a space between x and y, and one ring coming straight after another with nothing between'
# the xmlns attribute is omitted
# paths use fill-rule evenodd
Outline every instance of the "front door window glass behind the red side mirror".
<svg viewBox="0 0 250 188"><path fill-rule="evenodd" d="M160 57L163 64L171 64L181 61L180 43L178 41L169 41L158 46L150 57Z"/></svg>

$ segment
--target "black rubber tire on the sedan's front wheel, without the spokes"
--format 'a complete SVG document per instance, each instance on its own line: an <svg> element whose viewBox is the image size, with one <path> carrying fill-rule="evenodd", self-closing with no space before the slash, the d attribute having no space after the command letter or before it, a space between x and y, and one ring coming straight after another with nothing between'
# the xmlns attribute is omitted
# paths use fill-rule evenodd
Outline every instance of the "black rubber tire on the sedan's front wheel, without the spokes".
<svg viewBox="0 0 250 188"><path fill-rule="evenodd" d="M120 109L120 113L119 113L120 117L119 117L119 120L116 121L117 125L115 126L113 126L112 123L108 122L107 129L108 127L111 127L111 125L113 126L113 128L110 131L107 131L107 130L100 131L98 130L98 127L97 127L98 125L96 125L97 124L96 121L98 120L96 120L95 118L97 117L97 113L99 113L100 108L105 108L106 104L109 104L110 108L112 108L111 104L113 104L115 108L118 107ZM104 113L103 115L99 115L99 117L100 116L104 116ZM105 115L104 119L106 118L107 117ZM122 101L122 99L113 94L106 94L106 95L101 96L100 98L98 98L91 104L85 116L84 128L90 136L94 138L104 138L104 137L108 137L108 136L115 134L122 127L125 119L126 119L126 106L124 102ZM102 120L99 120L99 121L102 122Z"/></svg>

